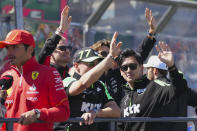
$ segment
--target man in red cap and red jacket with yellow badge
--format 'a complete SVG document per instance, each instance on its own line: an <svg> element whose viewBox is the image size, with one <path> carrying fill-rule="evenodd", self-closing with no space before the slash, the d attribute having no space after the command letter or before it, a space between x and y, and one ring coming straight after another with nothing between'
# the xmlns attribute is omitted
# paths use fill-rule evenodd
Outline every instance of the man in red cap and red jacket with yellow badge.
<svg viewBox="0 0 197 131"><path fill-rule="evenodd" d="M59 73L38 64L35 41L25 30L12 30L0 47L7 48L10 68L2 74L13 76L5 102L8 118L20 118L16 131L52 131L53 122L66 121L70 110ZM34 123L43 120L43 123Z"/></svg>

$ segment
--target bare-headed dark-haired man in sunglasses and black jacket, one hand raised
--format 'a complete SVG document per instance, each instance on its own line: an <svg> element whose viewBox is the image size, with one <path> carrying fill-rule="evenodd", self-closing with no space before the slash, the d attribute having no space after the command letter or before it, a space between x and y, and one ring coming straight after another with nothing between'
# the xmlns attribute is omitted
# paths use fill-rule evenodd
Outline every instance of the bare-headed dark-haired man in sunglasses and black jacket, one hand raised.
<svg viewBox="0 0 197 131"><path fill-rule="evenodd" d="M122 88L122 117L170 117L178 108L166 110L165 107L188 89L187 82L174 64L168 45L159 42L158 58L167 65L172 84L158 80L150 81L143 76L143 61L132 49L121 52L118 60L120 72L127 84ZM173 114L174 115L174 114ZM127 122L124 131L173 131L172 123Z"/></svg>

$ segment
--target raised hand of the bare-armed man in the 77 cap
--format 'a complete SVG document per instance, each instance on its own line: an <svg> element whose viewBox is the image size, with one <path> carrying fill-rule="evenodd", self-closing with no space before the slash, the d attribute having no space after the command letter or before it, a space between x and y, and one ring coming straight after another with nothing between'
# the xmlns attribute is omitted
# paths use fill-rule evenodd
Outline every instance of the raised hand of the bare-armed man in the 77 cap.
<svg viewBox="0 0 197 131"><path fill-rule="evenodd" d="M122 42L116 44L117 37L118 37L118 32L115 32L110 43L109 55L113 57L117 57L121 51L120 47L122 45Z"/></svg>

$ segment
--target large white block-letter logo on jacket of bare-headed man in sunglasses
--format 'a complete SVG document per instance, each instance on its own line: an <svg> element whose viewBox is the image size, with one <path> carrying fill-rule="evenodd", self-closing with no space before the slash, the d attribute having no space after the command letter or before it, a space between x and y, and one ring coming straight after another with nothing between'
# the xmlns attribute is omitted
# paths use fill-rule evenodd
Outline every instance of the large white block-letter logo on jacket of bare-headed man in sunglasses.
<svg viewBox="0 0 197 131"><path fill-rule="evenodd" d="M129 116L130 114L140 113L140 104L133 104L132 106L124 109L124 117Z"/></svg>

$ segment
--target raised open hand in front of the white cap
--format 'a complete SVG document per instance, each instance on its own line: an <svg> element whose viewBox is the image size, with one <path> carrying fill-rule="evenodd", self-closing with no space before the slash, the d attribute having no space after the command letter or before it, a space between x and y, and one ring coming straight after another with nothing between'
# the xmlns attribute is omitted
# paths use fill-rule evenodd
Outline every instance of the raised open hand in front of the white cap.
<svg viewBox="0 0 197 131"><path fill-rule="evenodd" d="M170 47L163 41L159 41L159 46L156 45L159 59L164 62L168 67L174 65L174 57Z"/></svg>

